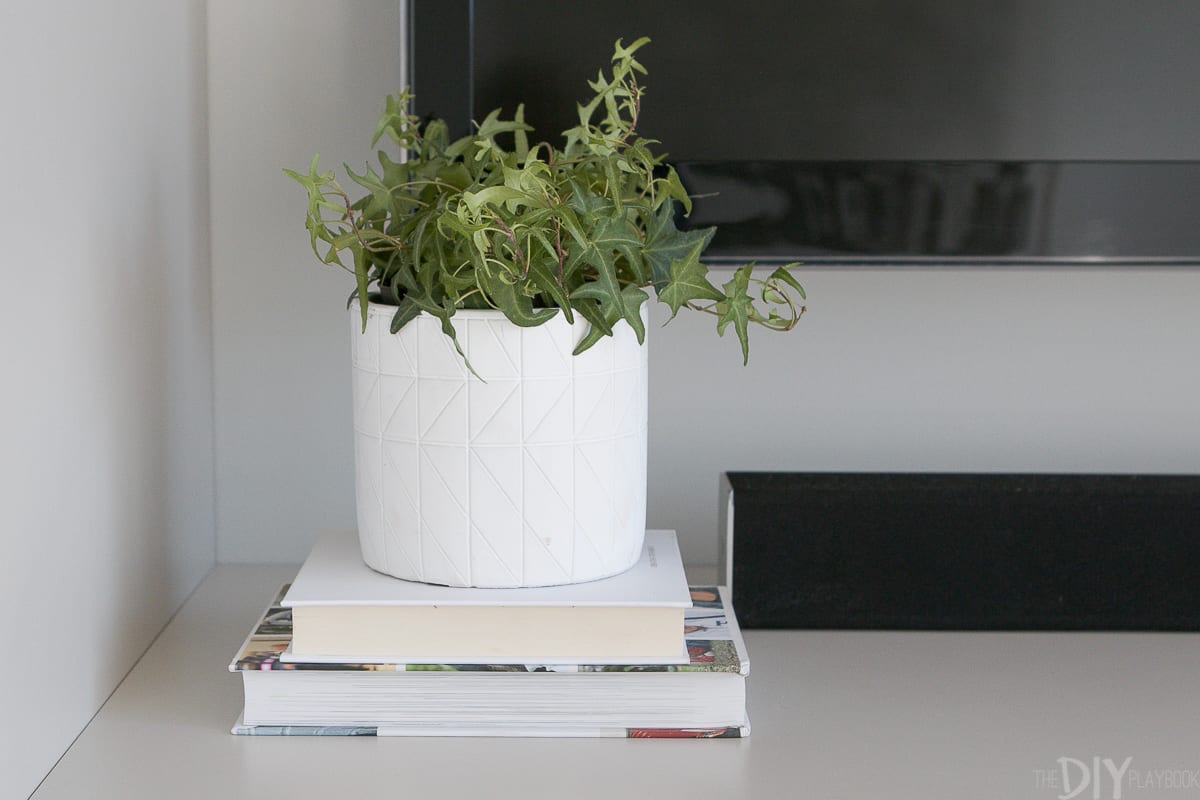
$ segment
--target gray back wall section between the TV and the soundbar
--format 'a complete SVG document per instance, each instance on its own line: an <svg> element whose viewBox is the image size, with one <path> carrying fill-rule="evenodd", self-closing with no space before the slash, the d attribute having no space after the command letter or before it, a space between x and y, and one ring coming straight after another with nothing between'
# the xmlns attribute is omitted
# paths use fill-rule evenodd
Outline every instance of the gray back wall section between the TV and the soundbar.
<svg viewBox="0 0 1200 800"><path fill-rule="evenodd" d="M1200 471L1200 271L808 270L750 366L682 314L650 350L650 518L712 558L722 469ZM968 531L964 531L968 534Z"/></svg>

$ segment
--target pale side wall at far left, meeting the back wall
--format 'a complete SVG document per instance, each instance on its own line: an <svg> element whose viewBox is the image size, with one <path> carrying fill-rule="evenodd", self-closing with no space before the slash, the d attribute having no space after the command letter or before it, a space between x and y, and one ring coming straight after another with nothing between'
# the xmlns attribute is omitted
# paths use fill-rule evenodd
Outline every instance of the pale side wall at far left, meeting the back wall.
<svg viewBox="0 0 1200 800"><path fill-rule="evenodd" d="M0 6L0 796L215 559L203 0Z"/></svg>

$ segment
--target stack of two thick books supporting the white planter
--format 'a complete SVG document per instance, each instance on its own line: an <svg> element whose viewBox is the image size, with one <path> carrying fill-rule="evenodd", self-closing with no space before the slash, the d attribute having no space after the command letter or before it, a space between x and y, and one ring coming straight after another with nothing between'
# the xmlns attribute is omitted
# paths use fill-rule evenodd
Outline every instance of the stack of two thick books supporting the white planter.
<svg viewBox="0 0 1200 800"><path fill-rule="evenodd" d="M628 572L540 589L398 581L331 533L229 666L233 733L745 736L749 668L724 588L688 585L672 531Z"/></svg>

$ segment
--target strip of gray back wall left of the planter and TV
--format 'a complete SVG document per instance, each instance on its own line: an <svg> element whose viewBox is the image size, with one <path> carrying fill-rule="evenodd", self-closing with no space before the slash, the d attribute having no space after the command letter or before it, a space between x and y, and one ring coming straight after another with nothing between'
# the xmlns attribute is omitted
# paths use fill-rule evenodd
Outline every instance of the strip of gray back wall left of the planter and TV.
<svg viewBox="0 0 1200 800"><path fill-rule="evenodd" d="M209 0L218 558L300 561L354 527L353 281L308 248L283 167L371 156L400 89L400 4Z"/></svg>

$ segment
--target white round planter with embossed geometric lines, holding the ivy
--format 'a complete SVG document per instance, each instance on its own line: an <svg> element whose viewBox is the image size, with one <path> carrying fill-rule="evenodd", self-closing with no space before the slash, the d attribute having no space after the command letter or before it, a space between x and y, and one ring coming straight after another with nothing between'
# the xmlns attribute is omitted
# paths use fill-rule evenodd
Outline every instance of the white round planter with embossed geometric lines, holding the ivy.
<svg viewBox="0 0 1200 800"><path fill-rule="evenodd" d="M362 558L455 587L539 587L617 575L646 531L646 348L624 321L580 356L559 314L517 327L460 311L458 341L421 314L350 309ZM643 306L644 314L644 306Z"/></svg>

